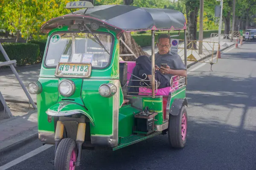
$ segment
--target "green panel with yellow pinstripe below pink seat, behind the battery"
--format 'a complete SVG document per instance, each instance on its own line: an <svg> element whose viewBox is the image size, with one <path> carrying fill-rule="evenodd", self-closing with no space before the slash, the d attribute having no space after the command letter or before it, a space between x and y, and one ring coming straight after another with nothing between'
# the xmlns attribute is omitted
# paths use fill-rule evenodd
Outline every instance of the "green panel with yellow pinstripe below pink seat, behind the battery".
<svg viewBox="0 0 256 170"><path fill-rule="evenodd" d="M145 107L148 107L149 110L154 110L157 112L157 116L155 116L155 125L162 125L163 124L163 98L162 97L146 97L142 98L143 100L143 110Z"/></svg>

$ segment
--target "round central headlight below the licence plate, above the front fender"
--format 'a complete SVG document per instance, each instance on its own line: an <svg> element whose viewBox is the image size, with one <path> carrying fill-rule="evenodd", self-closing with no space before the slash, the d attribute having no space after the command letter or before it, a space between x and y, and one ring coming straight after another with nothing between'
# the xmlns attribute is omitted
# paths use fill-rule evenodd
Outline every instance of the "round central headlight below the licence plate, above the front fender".
<svg viewBox="0 0 256 170"><path fill-rule="evenodd" d="M62 80L58 85L58 91L62 96L72 96L75 93L75 83L72 80Z"/></svg>

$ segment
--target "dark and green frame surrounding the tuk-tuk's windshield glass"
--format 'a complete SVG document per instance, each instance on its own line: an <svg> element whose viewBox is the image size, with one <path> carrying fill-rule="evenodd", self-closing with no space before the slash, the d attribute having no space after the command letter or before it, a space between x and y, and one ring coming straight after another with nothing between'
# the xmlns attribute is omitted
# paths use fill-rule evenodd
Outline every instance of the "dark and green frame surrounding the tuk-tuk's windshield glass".
<svg viewBox="0 0 256 170"><path fill-rule="evenodd" d="M110 54L109 54L108 65L106 65L105 67L92 67L91 68L92 70L93 69L95 69L95 70L103 70L105 68L108 68L111 65L112 58L113 58L113 48L114 48L114 43L115 43L115 37L110 32L104 32L104 31L92 31L92 32L93 32L93 34L107 34L107 35L111 36L111 38L112 38L111 48L110 48L111 50L109 51ZM44 67L45 68L55 68L56 69L56 67L57 67L57 65L56 66L48 66L48 65L46 65L46 58L47 58L49 44L50 44L50 40L51 40L52 36L54 36L55 34L61 34L61 33L65 33L65 34L68 34L68 33L88 33L88 34L90 34L89 31L78 31L78 30L77 31L75 30L75 31L54 31L54 32L52 32L52 34L47 39L46 51L45 51L45 54L44 54L44 62L43 63L44 63Z"/></svg>

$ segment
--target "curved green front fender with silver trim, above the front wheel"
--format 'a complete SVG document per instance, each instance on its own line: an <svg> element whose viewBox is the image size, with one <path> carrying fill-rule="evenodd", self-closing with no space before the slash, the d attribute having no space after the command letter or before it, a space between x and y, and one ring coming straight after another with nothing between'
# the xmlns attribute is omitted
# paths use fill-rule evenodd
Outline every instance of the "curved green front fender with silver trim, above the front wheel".
<svg viewBox="0 0 256 170"><path fill-rule="evenodd" d="M49 116L68 116L72 114L82 113L90 119L90 122L94 126L93 116L84 108L84 106L78 105L72 102L59 102L51 106L47 111Z"/></svg>

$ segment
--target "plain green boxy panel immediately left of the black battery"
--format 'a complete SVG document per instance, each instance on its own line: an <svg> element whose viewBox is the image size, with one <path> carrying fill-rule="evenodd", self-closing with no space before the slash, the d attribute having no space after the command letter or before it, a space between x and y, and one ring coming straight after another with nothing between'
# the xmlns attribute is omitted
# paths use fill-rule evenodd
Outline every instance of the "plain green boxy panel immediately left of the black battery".
<svg viewBox="0 0 256 170"><path fill-rule="evenodd" d="M132 134L134 126L134 113L140 113L140 111L136 108L132 108L131 105L126 105L119 109L119 137L127 137Z"/></svg>

